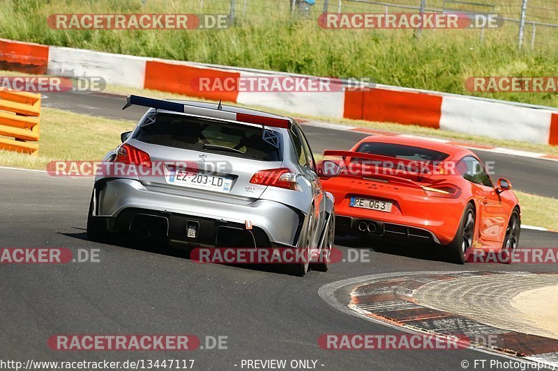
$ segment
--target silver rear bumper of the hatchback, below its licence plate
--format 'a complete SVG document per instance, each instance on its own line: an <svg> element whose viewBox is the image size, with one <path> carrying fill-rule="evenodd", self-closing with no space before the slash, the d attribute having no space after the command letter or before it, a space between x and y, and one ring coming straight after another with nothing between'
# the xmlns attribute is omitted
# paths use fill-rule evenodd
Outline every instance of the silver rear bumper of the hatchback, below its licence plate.
<svg viewBox="0 0 558 371"><path fill-rule="evenodd" d="M107 219L112 230L141 232L142 225L152 224L170 239L200 246L216 246L232 230L248 240L252 235L257 246L292 246L298 241L303 221L302 212L276 201L223 203L150 191L130 179L98 182L94 196L93 215ZM246 229L246 221L250 221L252 230ZM197 226L195 238L187 234L188 226L192 225Z"/></svg>

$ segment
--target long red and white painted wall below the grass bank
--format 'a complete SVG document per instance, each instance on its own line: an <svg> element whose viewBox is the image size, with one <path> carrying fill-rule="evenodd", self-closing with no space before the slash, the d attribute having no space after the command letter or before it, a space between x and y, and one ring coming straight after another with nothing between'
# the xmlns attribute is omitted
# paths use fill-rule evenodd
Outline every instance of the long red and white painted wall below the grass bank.
<svg viewBox="0 0 558 371"><path fill-rule="evenodd" d="M0 69L65 77L103 77L107 84L149 88L312 116L418 125L495 139L558 145L558 109L465 95L383 85L363 90L335 89L318 93L202 91L193 84L200 76L239 79L289 74L5 39L0 39Z"/></svg>

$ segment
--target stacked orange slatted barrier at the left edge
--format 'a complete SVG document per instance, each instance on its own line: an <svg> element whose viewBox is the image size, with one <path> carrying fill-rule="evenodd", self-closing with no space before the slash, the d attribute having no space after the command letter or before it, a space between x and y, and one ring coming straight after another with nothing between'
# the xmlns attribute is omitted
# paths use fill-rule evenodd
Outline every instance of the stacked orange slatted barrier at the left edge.
<svg viewBox="0 0 558 371"><path fill-rule="evenodd" d="M0 150L38 155L40 94L0 89Z"/></svg>

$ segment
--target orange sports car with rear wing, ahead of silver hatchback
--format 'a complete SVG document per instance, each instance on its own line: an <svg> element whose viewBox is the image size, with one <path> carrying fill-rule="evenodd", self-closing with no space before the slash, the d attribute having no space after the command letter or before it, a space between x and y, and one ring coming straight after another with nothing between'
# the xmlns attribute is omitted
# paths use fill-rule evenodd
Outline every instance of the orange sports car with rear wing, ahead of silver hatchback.
<svg viewBox="0 0 558 371"><path fill-rule="evenodd" d="M518 246L521 211L511 182L494 184L466 148L368 136L349 151L326 150L320 166L332 175L322 184L335 196L340 235L437 244L458 263L477 248Z"/></svg>

